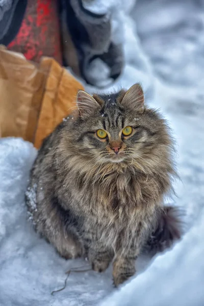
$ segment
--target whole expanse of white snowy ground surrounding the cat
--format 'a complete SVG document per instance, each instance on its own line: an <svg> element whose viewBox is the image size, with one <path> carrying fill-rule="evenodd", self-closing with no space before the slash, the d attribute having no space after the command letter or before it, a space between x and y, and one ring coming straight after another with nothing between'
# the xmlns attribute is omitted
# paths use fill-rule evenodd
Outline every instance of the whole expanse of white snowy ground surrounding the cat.
<svg viewBox="0 0 204 306"><path fill-rule="evenodd" d="M174 200L187 210L188 232L156 259L141 257L139 275L121 290L112 288L110 268L103 274L72 273L66 289L52 296L63 287L65 271L87 263L65 261L34 233L23 192L36 150L20 139L1 139L1 306L204 305L204 1L138 0L135 9L133 4L125 1L132 20L120 14L126 66L115 87L142 82L147 104L161 108L170 121L182 180L175 183Z"/></svg>

